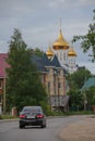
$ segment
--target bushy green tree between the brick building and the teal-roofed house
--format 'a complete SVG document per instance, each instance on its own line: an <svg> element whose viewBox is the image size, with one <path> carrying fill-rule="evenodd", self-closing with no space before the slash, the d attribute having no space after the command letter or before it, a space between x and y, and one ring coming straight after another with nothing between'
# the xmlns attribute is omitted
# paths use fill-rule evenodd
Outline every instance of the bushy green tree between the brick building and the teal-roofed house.
<svg viewBox="0 0 95 141"><path fill-rule="evenodd" d="M83 108L83 94L81 92L81 88L84 85L85 80L91 77L91 73L87 69L81 68L74 72L73 74L69 74L67 79L69 81L70 90L68 94L71 99L71 107L73 110L82 110Z"/></svg>

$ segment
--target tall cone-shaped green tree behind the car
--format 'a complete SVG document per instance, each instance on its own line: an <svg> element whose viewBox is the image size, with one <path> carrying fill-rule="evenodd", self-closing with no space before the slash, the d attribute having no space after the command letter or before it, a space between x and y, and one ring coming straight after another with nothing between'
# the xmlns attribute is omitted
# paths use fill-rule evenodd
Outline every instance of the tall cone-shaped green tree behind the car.
<svg viewBox="0 0 95 141"><path fill-rule="evenodd" d="M38 77L37 68L32 62L32 51L27 49L19 29L10 41L8 63L10 68L7 81L7 104L20 111L24 105L40 105L46 102L47 94Z"/></svg>

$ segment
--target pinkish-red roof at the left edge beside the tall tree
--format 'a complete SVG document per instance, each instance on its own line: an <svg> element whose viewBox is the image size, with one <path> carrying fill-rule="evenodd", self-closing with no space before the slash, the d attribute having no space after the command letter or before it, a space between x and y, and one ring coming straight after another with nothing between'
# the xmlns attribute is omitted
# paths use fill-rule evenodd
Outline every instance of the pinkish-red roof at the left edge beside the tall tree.
<svg viewBox="0 0 95 141"><path fill-rule="evenodd" d="M5 61L7 57L8 57L7 53L0 53L0 78L5 77L7 75L5 68L9 67L9 64Z"/></svg>

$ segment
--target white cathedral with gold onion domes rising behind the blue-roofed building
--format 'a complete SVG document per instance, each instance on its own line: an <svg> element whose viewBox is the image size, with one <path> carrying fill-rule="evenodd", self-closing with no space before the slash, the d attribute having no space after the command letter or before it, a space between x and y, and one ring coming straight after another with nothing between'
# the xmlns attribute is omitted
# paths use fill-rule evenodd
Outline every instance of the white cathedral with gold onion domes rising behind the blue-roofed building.
<svg viewBox="0 0 95 141"><path fill-rule="evenodd" d="M63 38L62 31L60 29L58 39L52 43L52 48L48 48L46 52L48 59L52 59L56 54L60 65L66 69L66 72L72 74L78 69L75 64L76 53L68 41Z"/></svg>

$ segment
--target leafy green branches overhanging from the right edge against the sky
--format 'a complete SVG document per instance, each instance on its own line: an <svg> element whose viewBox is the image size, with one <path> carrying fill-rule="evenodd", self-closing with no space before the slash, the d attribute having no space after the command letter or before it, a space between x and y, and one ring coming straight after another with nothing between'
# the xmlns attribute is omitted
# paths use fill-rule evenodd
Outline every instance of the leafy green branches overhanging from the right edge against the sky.
<svg viewBox="0 0 95 141"><path fill-rule="evenodd" d="M90 24L87 34L84 36L73 36L72 42L80 40L83 52L87 52L92 49L93 54L90 54L90 56L92 56L92 62L95 62L95 10L93 10L93 23Z"/></svg>

